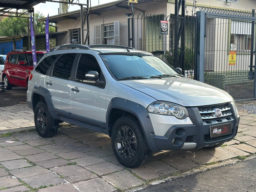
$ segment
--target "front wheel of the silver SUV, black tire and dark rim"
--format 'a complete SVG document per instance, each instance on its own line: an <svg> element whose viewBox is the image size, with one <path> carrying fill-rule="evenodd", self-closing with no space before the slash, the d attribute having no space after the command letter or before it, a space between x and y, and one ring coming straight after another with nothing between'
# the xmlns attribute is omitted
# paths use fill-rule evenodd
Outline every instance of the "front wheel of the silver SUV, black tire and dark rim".
<svg viewBox="0 0 256 192"><path fill-rule="evenodd" d="M148 163L152 156L140 123L132 116L123 116L116 121L111 144L116 159L125 167L139 167Z"/></svg>

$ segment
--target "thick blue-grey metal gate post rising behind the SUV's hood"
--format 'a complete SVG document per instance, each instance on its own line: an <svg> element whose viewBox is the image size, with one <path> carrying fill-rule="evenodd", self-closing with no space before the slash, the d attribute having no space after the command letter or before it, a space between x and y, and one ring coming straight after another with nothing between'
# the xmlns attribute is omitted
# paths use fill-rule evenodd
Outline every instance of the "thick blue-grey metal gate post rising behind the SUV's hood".
<svg viewBox="0 0 256 192"><path fill-rule="evenodd" d="M195 45L195 77L197 81L204 83L204 37L206 13L196 12L196 45Z"/></svg>

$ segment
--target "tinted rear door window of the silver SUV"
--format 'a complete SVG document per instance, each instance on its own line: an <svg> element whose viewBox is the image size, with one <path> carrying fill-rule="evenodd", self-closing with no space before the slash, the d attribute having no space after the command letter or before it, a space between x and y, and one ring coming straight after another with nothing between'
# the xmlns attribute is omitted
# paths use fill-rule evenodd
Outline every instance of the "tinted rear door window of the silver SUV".
<svg viewBox="0 0 256 192"><path fill-rule="evenodd" d="M71 69L76 57L76 53L62 55L54 65L52 76L62 79L70 79Z"/></svg>

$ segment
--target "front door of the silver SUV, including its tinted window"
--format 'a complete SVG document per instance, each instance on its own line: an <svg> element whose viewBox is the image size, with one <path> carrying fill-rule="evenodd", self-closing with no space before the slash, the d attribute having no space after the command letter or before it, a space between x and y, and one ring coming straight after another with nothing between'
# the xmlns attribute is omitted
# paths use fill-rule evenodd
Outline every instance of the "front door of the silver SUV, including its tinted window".
<svg viewBox="0 0 256 192"><path fill-rule="evenodd" d="M89 124L103 126L106 122L105 88L95 85L95 81L85 79L88 71L97 71L99 79L104 79L100 66L91 54L82 53L76 71L76 78L71 82L72 118ZM108 84L108 82L106 82Z"/></svg>

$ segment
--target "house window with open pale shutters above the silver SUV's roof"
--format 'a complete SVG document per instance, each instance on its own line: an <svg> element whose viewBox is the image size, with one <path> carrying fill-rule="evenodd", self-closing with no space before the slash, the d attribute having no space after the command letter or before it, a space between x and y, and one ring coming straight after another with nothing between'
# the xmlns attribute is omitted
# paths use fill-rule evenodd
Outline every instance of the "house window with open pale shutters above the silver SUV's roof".
<svg viewBox="0 0 256 192"><path fill-rule="evenodd" d="M94 26L94 44L119 45L119 21Z"/></svg>

